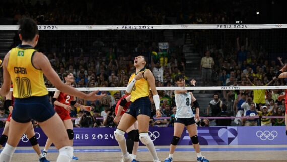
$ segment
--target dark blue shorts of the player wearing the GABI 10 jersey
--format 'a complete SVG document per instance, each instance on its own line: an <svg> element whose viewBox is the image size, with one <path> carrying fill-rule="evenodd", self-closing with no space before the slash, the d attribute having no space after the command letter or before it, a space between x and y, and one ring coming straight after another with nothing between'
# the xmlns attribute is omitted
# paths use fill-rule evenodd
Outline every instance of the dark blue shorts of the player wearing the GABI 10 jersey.
<svg viewBox="0 0 287 162"><path fill-rule="evenodd" d="M19 123L27 123L32 119L37 122L44 122L55 113L48 95L23 99L15 98L12 119Z"/></svg>

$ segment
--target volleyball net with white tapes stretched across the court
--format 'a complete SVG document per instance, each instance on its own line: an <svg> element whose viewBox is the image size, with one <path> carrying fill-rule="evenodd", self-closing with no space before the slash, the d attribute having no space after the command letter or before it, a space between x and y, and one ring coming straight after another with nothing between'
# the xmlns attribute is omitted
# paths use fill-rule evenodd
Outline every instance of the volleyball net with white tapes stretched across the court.
<svg viewBox="0 0 287 162"><path fill-rule="evenodd" d="M73 72L73 85L80 91L110 91L111 97L116 92L123 94L134 72L133 57L143 55L155 76L161 106L167 100L172 109L174 90L194 90L195 98L201 101L203 116L210 115L206 107L213 94L218 94L227 105L227 111L233 112L233 116L227 118L248 118L236 116L238 107L234 102L241 99L238 96L243 92L254 99L256 90L264 90L263 98L267 103L265 101L261 108L266 105L269 110L277 104L282 112L285 110L278 96L287 89L286 82L273 77L287 63L287 24L41 25L38 28L40 39L36 49L48 56L62 80L66 71ZM0 45L2 55L20 43L17 30L17 26L0 26L0 41L5 42ZM206 50L214 60L208 84L203 83L200 71ZM239 53L246 57L240 60ZM174 77L177 74L186 77L187 87L176 87ZM197 80L196 87L188 86L190 79ZM261 80L261 86L252 86L253 83L257 85L257 80ZM263 86L266 84L269 86ZM46 85L49 91L56 90L47 80Z"/></svg>

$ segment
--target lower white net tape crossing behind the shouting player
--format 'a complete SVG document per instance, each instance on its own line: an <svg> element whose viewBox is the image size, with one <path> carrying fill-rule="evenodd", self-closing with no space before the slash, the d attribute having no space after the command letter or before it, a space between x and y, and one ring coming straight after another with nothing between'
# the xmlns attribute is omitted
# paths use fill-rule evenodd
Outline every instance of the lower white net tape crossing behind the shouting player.
<svg viewBox="0 0 287 162"><path fill-rule="evenodd" d="M47 88L48 91L56 91L56 88ZM94 88L76 88L79 91L115 91L125 90L126 87L94 87ZM287 89L287 86L233 86L233 87L156 87L157 90L254 90L254 89ZM10 91L13 89L11 88Z"/></svg>

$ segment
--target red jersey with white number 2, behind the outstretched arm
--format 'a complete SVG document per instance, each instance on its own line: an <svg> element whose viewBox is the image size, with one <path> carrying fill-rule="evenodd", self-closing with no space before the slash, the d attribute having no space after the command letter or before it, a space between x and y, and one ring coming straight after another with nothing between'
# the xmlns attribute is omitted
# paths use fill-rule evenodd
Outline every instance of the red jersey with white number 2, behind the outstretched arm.
<svg viewBox="0 0 287 162"><path fill-rule="evenodd" d="M72 99L73 96L61 92L59 97L57 98L57 101L66 105L70 105ZM54 109L63 121L71 119L70 112L66 110L64 107L55 105Z"/></svg>

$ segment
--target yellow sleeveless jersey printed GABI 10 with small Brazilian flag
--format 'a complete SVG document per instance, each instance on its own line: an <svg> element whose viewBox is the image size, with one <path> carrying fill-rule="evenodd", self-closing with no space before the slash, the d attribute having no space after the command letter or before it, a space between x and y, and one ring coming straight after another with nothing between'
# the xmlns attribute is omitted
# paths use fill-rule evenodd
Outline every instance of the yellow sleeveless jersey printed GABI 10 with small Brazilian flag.
<svg viewBox="0 0 287 162"><path fill-rule="evenodd" d="M30 45L19 45L10 50L7 70L13 82L13 97L28 98L48 94L43 71L36 69L32 56L36 53Z"/></svg>

